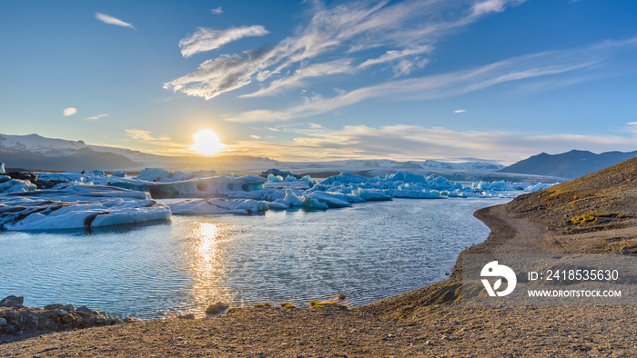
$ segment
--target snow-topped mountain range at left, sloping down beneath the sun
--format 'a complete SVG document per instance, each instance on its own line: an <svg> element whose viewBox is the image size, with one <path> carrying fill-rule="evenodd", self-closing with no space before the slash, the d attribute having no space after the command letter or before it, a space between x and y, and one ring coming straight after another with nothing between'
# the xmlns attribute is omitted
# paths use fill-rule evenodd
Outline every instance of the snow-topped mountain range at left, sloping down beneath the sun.
<svg viewBox="0 0 637 358"><path fill-rule="evenodd" d="M277 161L249 155L164 156L126 148L85 144L83 141L45 138L38 134L0 134L0 162L6 168L30 170L129 170L145 167L214 169L219 172L263 170Z"/></svg>

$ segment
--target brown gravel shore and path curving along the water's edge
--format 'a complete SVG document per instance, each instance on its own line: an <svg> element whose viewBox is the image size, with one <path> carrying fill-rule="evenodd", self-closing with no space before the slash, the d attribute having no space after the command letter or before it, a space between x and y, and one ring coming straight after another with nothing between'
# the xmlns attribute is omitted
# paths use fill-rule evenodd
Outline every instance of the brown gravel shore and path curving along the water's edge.
<svg viewBox="0 0 637 358"><path fill-rule="evenodd" d="M635 232L555 234L507 205L476 216L491 234L463 254L582 252L581 242ZM353 310L250 308L49 333L0 344L0 356L637 356L634 306L465 306L460 277L458 264L445 282Z"/></svg>

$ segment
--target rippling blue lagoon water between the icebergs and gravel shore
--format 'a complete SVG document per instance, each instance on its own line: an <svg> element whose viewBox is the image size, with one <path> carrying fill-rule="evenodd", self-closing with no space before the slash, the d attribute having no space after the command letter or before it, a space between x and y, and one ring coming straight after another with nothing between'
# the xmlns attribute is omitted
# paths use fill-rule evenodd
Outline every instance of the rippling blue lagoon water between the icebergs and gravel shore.
<svg viewBox="0 0 637 358"><path fill-rule="evenodd" d="M86 304L157 318L234 305L334 298L371 303L446 278L489 229L472 216L508 199L409 200L325 212L173 216L101 233L0 233L0 298Z"/></svg>

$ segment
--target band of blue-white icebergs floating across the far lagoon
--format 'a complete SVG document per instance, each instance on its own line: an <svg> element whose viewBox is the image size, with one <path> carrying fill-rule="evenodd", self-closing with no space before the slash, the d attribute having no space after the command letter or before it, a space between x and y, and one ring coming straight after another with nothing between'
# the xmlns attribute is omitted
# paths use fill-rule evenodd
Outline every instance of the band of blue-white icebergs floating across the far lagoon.
<svg viewBox="0 0 637 358"><path fill-rule="evenodd" d="M10 231L91 229L166 220L172 214L257 214L295 207L327 210L394 198L512 198L551 186L453 182L403 172L384 178L341 173L317 182L277 169L238 176L148 168L138 175L37 173L38 187L46 189L36 189L29 180L8 175L0 174L0 230ZM155 201L165 198L176 200Z"/></svg>

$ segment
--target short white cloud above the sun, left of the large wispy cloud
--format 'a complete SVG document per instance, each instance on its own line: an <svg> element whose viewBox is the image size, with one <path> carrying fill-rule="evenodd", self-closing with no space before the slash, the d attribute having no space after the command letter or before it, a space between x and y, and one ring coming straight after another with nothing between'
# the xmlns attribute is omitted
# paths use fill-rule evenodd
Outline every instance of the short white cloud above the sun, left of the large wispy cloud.
<svg viewBox="0 0 637 358"><path fill-rule="evenodd" d="M197 32L179 41L179 47L181 47L181 55L189 57L198 53L214 50L243 37L264 36L268 34L268 30L261 25L233 27L227 30L199 27Z"/></svg>

